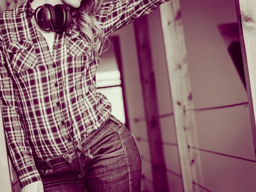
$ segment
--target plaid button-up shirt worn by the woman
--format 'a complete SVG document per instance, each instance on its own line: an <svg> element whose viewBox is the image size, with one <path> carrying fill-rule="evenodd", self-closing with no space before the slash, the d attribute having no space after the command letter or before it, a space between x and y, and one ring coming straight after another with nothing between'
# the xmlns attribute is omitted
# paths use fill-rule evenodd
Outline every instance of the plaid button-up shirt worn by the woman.
<svg viewBox="0 0 256 192"><path fill-rule="evenodd" d="M114 0L96 14L108 36L167 0ZM41 180L32 161L64 154L104 124L111 104L96 92L98 59L78 28L55 34L52 52L26 2L0 14L0 96L9 157L20 186ZM73 132L71 125L73 124ZM73 133L73 135L72 135Z"/></svg>

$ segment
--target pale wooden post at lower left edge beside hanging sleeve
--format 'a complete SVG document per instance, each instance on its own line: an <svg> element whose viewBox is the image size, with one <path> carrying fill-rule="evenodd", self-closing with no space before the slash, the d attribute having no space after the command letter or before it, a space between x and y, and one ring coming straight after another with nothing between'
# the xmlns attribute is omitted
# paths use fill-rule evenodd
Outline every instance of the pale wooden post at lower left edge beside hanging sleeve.
<svg viewBox="0 0 256 192"><path fill-rule="evenodd" d="M5 132L3 129L2 110L0 108L0 192L12 192L12 179L7 157Z"/></svg>

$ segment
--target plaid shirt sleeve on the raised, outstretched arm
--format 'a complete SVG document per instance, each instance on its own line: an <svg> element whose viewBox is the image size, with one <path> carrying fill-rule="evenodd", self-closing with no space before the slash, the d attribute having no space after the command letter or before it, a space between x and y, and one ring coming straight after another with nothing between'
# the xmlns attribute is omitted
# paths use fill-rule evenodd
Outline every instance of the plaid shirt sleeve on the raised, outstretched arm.
<svg viewBox="0 0 256 192"><path fill-rule="evenodd" d="M96 14L102 30L108 36L137 17L153 12L168 0L113 0L103 3Z"/></svg>

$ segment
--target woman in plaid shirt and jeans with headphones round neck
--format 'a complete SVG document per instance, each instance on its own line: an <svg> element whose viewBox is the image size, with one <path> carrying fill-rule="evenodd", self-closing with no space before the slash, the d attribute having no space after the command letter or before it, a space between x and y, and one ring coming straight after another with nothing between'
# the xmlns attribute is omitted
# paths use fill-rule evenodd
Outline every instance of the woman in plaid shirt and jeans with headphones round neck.
<svg viewBox="0 0 256 192"><path fill-rule="evenodd" d="M140 191L137 145L95 72L108 35L166 1L29 0L1 13L1 106L22 192Z"/></svg>

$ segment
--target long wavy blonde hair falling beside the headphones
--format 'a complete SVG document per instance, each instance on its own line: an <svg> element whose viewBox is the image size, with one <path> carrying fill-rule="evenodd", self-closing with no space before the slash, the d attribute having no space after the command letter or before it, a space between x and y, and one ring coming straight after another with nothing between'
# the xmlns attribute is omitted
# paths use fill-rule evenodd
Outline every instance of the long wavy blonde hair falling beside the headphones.
<svg viewBox="0 0 256 192"><path fill-rule="evenodd" d="M102 52L108 49L104 47L105 41L108 40L108 37L102 31L95 17L96 13L102 6L102 3L103 0L82 0L80 6L81 9L79 9L78 15L74 20L90 44L88 52L93 50L95 57L98 59Z"/></svg>

